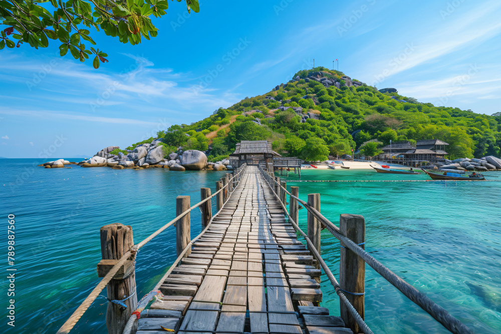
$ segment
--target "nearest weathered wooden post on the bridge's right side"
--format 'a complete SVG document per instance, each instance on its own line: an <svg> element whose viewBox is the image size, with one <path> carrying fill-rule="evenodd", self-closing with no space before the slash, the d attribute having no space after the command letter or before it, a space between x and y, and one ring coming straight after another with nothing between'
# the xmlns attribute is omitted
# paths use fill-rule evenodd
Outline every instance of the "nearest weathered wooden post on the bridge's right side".
<svg viewBox="0 0 501 334"><path fill-rule="evenodd" d="M356 214L342 214L339 219L341 234L353 240L356 244L365 242L365 220L364 217ZM341 246L346 245L341 242ZM365 262L364 260L348 248L341 247L339 261L339 285L343 290L363 293L365 292ZM364 248L364 245L360 245ZM358 314L364 318L364 295L353 295L345 293L346 298L351 302ZM341 317L346 327L351 328L354 333L358 333L360 328L355 319L348 312L344 303L340 303Z"/></svg>

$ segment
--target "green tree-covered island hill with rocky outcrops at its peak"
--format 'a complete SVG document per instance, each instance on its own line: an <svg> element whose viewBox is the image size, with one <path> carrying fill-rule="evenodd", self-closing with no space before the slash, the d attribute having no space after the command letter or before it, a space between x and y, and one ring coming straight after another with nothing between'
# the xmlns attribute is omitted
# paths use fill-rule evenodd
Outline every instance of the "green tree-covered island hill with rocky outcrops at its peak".
<svg viewBox="0 0 501 334"><path fill-rule="evenodd" d="M382 93L323 67L299 71L292 79L266 94L219 108L201 121L174 125L157 135L167 151L178 146L210 150L213 161L231 153L241 140L264 139L284 156L307 160L351 154L351 149L370 140L387 145L390 139L411 143L440 139L450 144L450 158L499 156L501 113L488 116L435 107L401 96L395 89Z"/></svg>

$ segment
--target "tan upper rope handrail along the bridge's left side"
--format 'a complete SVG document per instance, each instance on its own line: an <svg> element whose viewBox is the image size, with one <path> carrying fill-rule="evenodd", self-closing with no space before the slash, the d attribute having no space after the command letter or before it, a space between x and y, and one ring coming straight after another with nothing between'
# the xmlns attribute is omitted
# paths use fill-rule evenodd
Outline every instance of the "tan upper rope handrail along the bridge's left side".
<svg viewBox="0 0 501 334"><path fill-rule="evenodd" d="M242 168L243 167L243 168ZM237 175L240 173L244 172L246 169L246 165L242 165L240 167L240 170L236 173L233 174L233 176L229 179L229 181L232 181ZM186 211L180 213L177 217L169 221L167 224L163 225L160 227L158 230L153 232L150 236L148 236L146 239L143 241L139 242L138 244L134 245L129 249L119 260L118 262L108 271L108 273L103 277L103 279L96 285L96 287L89 293L87 298L84 299L84 301L77 307L77 309L72 313L72 315L66 320L66 322L59 328L59 330L56 332L56 334L67 334L70 332L70 330L75 326L75 324L78 322L78 320L82 317L82 315L87 311L87 309L90 307L92 302L97 298L97 296L101 293L101 291L106 287L106 285L113 279L113 276L118 272L120 267L125 264L129 258L133 258L136 256L136 253L139 251L141 247L143 247L145 244L147 244L151 239L153 239L155 236L163 232L167 227L171 226L174 224L176 221L187 215L189 212L191 212L193 209L199 207L203 203L207 202L210 200L212 197L216 196L218 193L221 191L224 191L226 187L228 187L230 182L226 183L216 191L214 194L210 195L209 197L205 198L204 200L196 203L195 205L191 206L189 209ZM229 188L228 188L229 189ZM229 197L229 196L228 196ZM208 225L207 225L208 226ZM197 236L199 237L199 236ZM183 250L184 251L184 250ZM180 260L180 259L179 259ZM177 261L177 259L176 259ZM151 299L150 299L151 300Z"/></svg>

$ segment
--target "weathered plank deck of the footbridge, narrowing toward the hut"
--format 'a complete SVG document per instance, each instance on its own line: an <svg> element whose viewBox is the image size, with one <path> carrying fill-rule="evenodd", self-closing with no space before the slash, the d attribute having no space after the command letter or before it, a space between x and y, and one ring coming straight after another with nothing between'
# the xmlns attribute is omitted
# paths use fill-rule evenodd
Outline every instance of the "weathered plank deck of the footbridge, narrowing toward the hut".
<svg viewBox="0 0 501 334"><path fill-rule="evenodd" d="M165 332L160 326L180 334L352 333L315 306L322 292L314 264L258 167L249 166L161 285L161 300L141 313L137 333Z"/></svg>

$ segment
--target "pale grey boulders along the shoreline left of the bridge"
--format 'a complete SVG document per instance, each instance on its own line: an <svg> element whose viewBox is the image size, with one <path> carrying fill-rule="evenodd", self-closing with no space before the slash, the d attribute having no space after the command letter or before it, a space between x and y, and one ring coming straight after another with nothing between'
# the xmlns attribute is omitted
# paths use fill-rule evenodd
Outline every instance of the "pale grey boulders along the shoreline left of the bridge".
<svg viewBox="0 0 501 334"><path fill-rule="evenodd" d="M228 159L217 162L207 162L204 152L197 150L182 151L179 147L177 152L168 154L161 140L156 139L151 144L137 145L133 150L126 150L127 154L118 152L118 146L108 146L97 152L92 158L80 162L70 162L64 159L49 161L39 166L45 168L62 168L66 165L78 165L81 167L111 167L113 169L144 169L144 168L169 168L174 171L185 170L232 170L233 167ZM67 167L68 168L68 167Z"/></svg>

